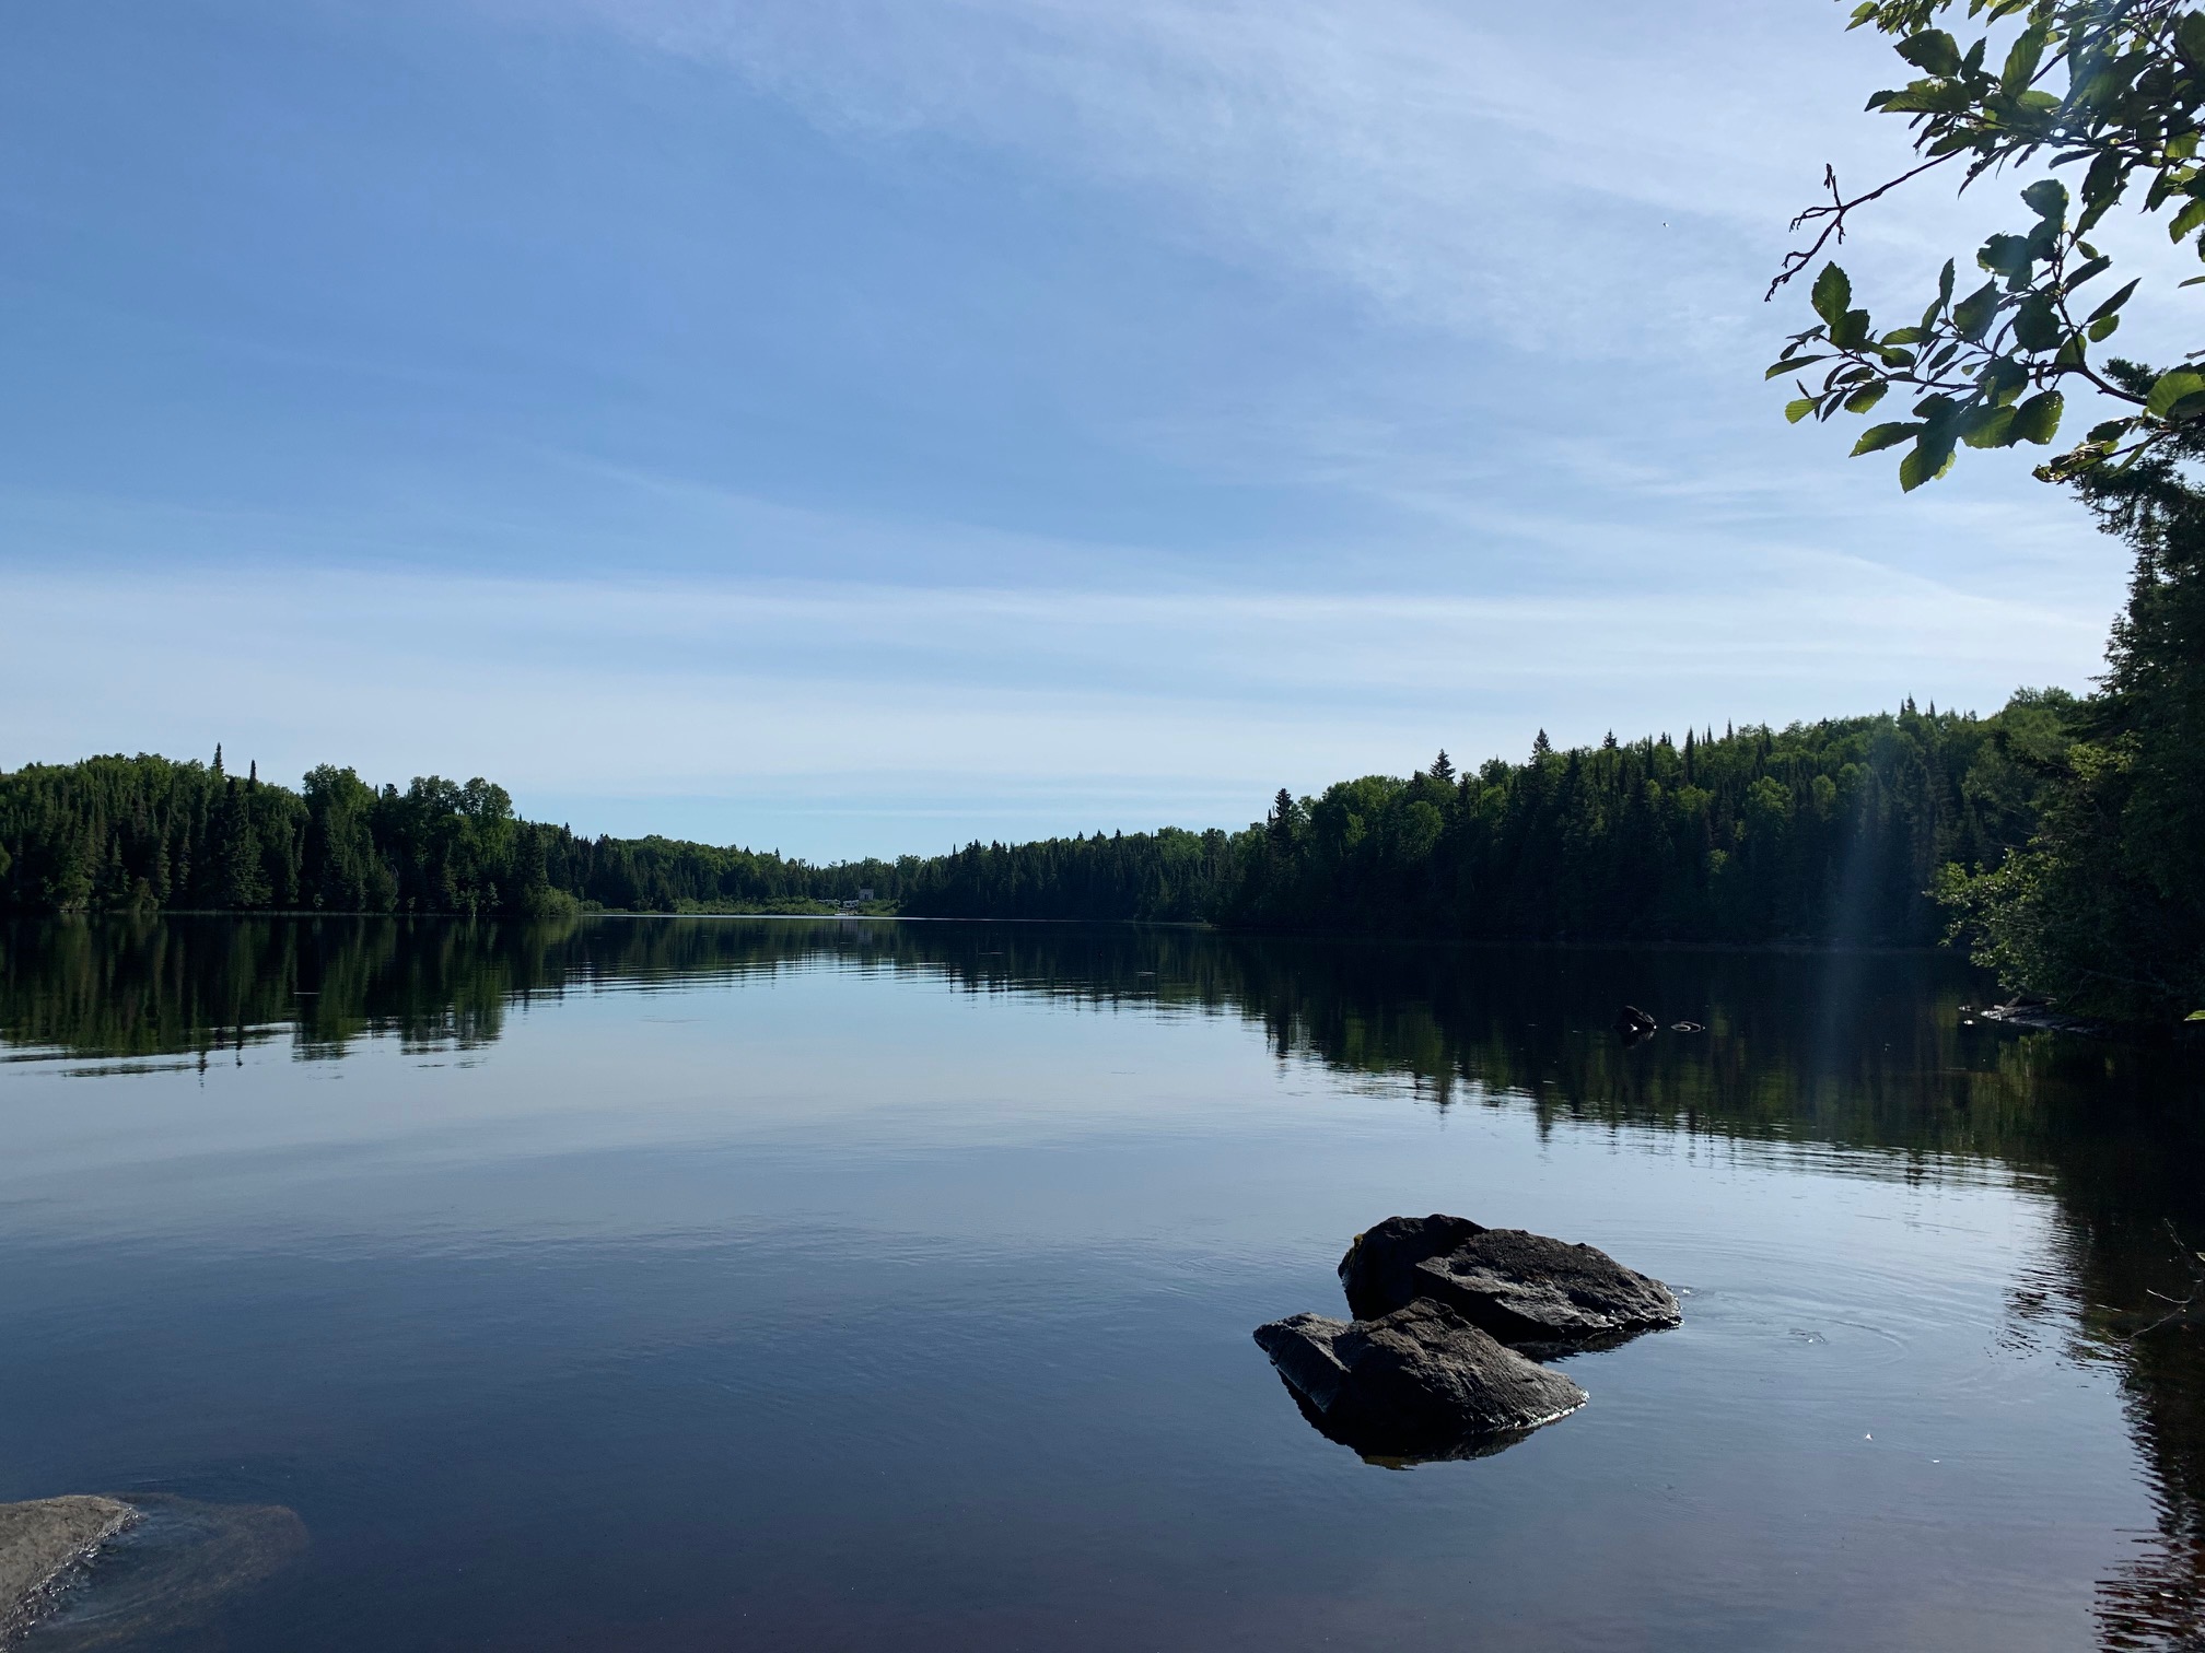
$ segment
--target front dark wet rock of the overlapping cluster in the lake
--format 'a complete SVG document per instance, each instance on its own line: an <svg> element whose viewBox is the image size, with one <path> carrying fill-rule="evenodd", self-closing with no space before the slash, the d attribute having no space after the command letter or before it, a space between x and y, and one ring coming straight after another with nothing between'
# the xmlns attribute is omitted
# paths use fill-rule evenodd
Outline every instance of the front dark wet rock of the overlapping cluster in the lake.
<svg viewBox="0 0 2205 1653"><path fill-rule="evenodd" d="M1431 1300L1356 1322L1297 1314L1257 1327L1255 1340L1319 1426L1365 1455L1458 1457L1585 1404L1559 1371Z"/></svg>

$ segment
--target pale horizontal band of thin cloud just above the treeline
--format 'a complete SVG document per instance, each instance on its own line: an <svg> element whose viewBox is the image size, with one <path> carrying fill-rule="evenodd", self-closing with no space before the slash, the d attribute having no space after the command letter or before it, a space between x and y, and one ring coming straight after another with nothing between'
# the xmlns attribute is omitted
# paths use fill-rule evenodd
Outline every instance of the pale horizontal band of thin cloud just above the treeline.
<svg viewBox="0 0 2205 1653"><path fill-rule="evenodd" d="M1927 650L1998 699L2046 655L2082 666L2070 613L1801 555L1817 615L1771 635L1749 599L1405 599L1246 591L582 584L309 573L209 591L139 577L11 582L0 692L40 747L64 734L293 776L505 780L578 827L714 833L814 855L966 835L1239 822L1277 785L1405 769L1532 723L1641 730L1634 685L1696 721L1810 716L1832 674L1899 683ZM66 712L86 633L112 668ZM1555 635L1572 648L1557 650ZM251 648L236 639L251 637ZM1160 666L1160 659L1173 666ZM192 683L190 696L168 685ZM1222 745L1219 730L1230 732ZM589 754L589 791L573 754ZM730 785L732 782L732 785Z"/></svg>

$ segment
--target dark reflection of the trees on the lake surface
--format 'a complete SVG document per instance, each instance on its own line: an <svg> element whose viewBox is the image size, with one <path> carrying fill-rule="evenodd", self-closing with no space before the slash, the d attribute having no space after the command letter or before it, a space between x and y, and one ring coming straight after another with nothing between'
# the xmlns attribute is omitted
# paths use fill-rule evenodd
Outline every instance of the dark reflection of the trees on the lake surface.
<svg viewBox="0 0 2205 1653"><path fill-rule="evenodd" d="M42 921L0 926L0 1060L128 1071L284 1040L309 1062L370 1038L467 1047L538 998L818 968L1244 1018L1281 1060L1442 1111L1874 1150L1883 1175L1993 1170L2042 1186L2062 1212L2059 1256L2015 1292L2015 1325L2121 1371L2159 1505L2156 1532L2101 1582L2101 1642L2205 1638L2205 1325L2168 1318L2170 1300L2198 1292L2192 1254L2205 1247L2196 1056L1969 1027L1960 1005L1987 983L1947 957L873 919ZM1645 1005L1663 1031L1625 1047L1610 1031L1621 1003ZM1704 1031L1669 1031L1680 1020Z"/></svg>

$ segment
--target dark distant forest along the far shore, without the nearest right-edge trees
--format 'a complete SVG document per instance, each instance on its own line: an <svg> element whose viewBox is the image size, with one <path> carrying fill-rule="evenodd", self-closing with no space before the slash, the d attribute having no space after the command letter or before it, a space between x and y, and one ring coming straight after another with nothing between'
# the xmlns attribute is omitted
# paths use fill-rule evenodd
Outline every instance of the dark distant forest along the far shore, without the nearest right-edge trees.
<svg viewBox="0 0 2205 1653"><path fill-rule="evenodd" d="M0 776L0 906L549 915L578 908L1208 919L1246 930L1528 941L1936 941L1943 868L2029 842L2073 701L1687 732L1323 796L1239 833L1094 833L814 866L668 838L580 838L487 780L293 791L247 765L106 756Z"/></svg>

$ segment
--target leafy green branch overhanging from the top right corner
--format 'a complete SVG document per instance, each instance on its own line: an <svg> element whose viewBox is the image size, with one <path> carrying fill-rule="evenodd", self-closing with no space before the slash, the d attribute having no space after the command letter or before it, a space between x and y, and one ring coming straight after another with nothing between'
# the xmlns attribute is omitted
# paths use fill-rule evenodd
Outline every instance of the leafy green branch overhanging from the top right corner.
<svg viewBox="0 0 2205 1653"><path fill-rule="evenodd" d="M1923 172L1951 170L1967 187L1984 174L2073 168L2079 198L2055 176L2031 181L2020 192L2029 214L2018 231L1976 251L1982 284L1958 282L1956 260L1947 260L1921 320L1903 326L1879 331L1854 306L1846 271L1824 264L1813 282L1819 320L1768 368L1771 379L1797 386L1786 414L1865 414L1899 388L1914 399L1910 417L1872 425L1852 452L1907 445L1899 465L1907 489L1943 476L1960 445L2053 441L2064 388L2077 383L2112 401L2117 414L2040 474L2077 478L2163 452L2205 419L2205 372L2194 361L2148 372L2093 359L2121 326L2141 278L2119 287L2108 276L2112 258L2088 238L2141 185L2141 201L2128 205L2145 216L2170 212L2172 240L2205 258L2205 13L2181 0L1969 0L1971 37L1962 44L1934 26L1951 11L1954 0L1865 0L1854 9L1852 24L1892 35L1916 73L1870 97L1868 108L1903 115L1921 161L1852 198L1830 174L1830 201L1793 225L1817 225L1819 234L1784 260L1771 291L1843 240L1850 214Z"/></svg>

